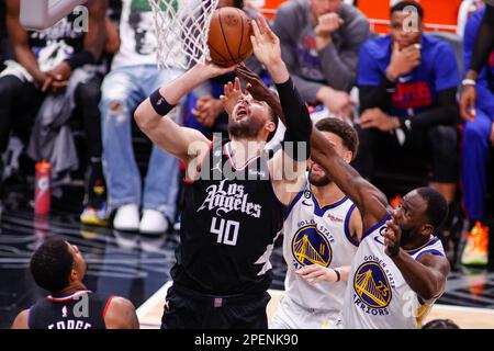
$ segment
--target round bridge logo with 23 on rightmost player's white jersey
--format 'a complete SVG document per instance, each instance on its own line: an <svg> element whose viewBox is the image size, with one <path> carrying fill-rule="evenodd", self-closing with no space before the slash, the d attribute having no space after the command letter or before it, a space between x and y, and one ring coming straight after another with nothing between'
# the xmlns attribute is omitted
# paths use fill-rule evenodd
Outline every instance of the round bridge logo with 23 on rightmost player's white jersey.
<svg viewBox="0 0 494 351"><path fill-rule="evenodd" d="M353 304L366 314L388 316L394 287L388 263L377 256L366 256L353 276Z"/></svg>

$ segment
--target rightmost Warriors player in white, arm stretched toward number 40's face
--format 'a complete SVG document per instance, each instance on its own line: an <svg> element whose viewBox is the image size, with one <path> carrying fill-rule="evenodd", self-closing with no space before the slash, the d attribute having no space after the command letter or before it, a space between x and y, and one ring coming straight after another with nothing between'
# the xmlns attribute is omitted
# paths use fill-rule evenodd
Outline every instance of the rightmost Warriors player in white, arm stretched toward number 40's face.
<svg viewBox="0 0 494 351"><path fill-rule="evenodd" d="M256 77L240 75L249 92L262 97L282 116L277 97ZM269 98L268 98L269 95ZM344 328L417 328L444 293L450 265L435 236L448 206L431 188L406 194L393 210L386 196L363 179L337 152L323 133L312 129L311 159L357 205L362 239L353 258L345 292Z"/></svg>

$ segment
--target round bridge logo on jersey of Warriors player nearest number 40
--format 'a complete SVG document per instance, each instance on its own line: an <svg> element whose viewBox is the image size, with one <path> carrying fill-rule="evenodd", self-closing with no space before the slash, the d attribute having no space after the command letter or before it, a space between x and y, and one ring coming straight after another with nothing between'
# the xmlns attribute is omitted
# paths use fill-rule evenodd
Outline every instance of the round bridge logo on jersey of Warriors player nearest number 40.
<svg viewBox="0 0 494 351"><path fill-rule="evenodd" d="M296 231L292 240L292 252L302 265L328 267L333 258L329 241L314 225L302 227Z"/></svg>

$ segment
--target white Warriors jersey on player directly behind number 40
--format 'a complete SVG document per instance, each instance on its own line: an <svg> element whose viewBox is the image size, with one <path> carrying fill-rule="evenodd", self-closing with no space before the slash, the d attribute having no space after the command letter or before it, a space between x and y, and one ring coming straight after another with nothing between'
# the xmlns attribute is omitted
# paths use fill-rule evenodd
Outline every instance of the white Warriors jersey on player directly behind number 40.
<svg viewBox="0 0 494 351"><path fill-rule="evenodd" d="M319 313L341 310L346 282L311 285L295 271L310 264L332 268L351 264L358 247L349 229L355 208L347 196L321 207L308 181L289 207L283 224L283 256L288 265L284 285L287 296L299 306Z"/></svg>

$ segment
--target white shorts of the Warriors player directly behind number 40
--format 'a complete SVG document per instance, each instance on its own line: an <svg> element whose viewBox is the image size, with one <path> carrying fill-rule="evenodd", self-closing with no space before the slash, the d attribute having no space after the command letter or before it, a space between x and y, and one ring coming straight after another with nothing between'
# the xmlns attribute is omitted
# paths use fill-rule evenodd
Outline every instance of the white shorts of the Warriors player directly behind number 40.
<svg viewBox="0 0 494 351"><path fill-rule="evenodd" d="M317 312L295 304L287 295L282 296L277 313L269 326L270 329L325 329L334 326L340 313Z"/></svg>

